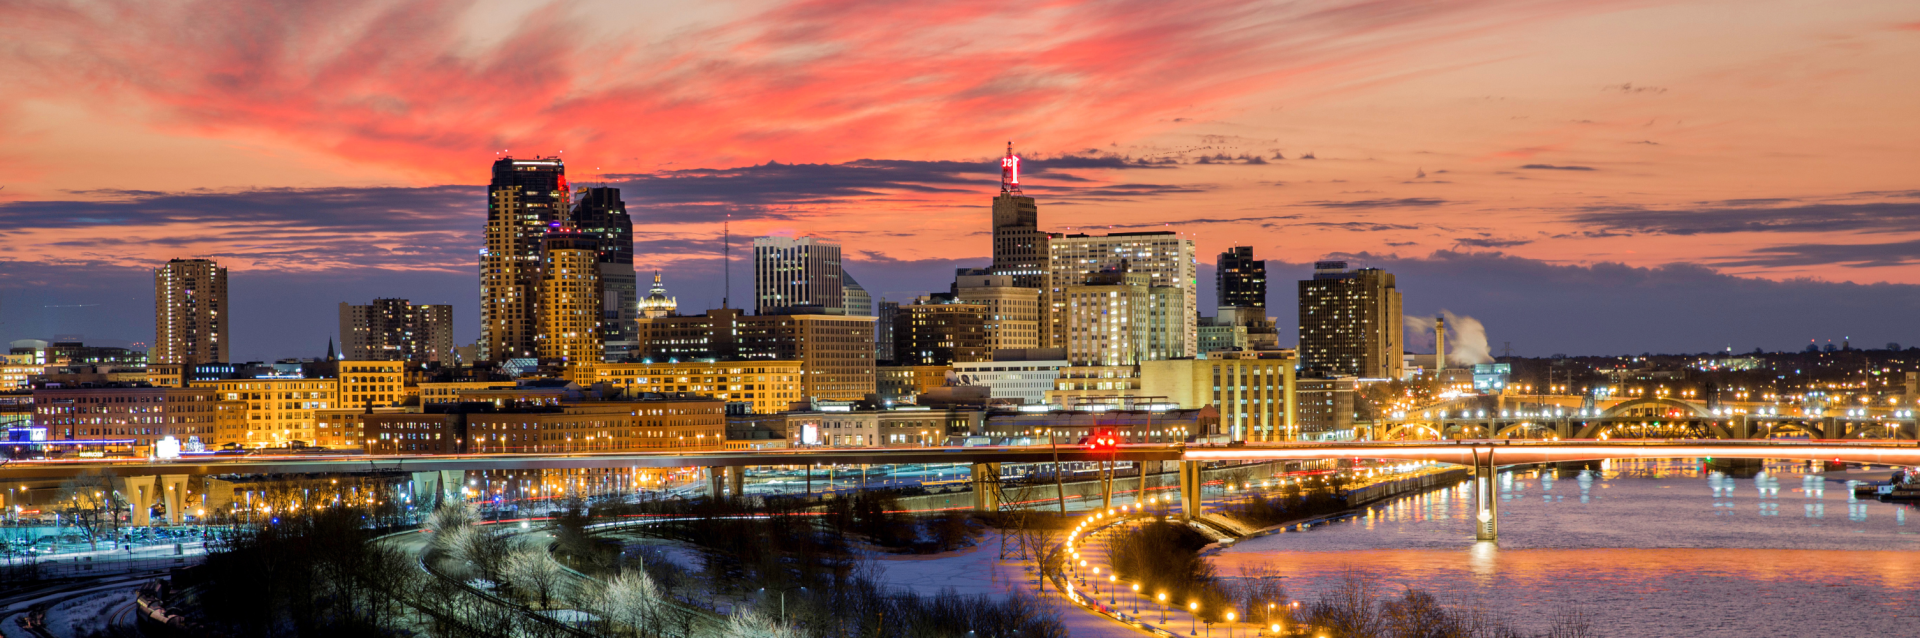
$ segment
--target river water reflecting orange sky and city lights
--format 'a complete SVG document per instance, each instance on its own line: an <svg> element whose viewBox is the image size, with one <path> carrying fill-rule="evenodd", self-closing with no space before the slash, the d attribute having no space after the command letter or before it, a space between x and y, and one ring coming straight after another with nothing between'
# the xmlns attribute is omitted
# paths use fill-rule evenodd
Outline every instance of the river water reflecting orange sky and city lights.
<svg viewBox="0 0 1920 638"><path fill-rule="evenodd" d="M1603 636L1920 636L1920 509L1855 500L1845 478L1697 461L1500 475L1500 542L1473 542L1467 484L1365 517L1240 542L1223 577L1275 569L1311 600L1348 571L1544 630L1572 605Z"/></svg>

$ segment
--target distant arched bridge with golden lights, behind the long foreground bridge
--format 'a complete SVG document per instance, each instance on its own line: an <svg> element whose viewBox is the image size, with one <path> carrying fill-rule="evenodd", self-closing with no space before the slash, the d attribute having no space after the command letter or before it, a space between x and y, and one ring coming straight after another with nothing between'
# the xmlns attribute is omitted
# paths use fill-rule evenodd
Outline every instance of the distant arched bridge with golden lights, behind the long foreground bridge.
<svg viewBox="0 0 1920 638"><path fill-rule="evenodd" d="M1453 438L1857 438L1920 440L1916 411L1903 407L1803 409L1782 415L1772 404L1707 404L1661 396L1609 407L1538 402L1519 407L1461 407L1461 402L1390 413L1373 440Z"/></svg>

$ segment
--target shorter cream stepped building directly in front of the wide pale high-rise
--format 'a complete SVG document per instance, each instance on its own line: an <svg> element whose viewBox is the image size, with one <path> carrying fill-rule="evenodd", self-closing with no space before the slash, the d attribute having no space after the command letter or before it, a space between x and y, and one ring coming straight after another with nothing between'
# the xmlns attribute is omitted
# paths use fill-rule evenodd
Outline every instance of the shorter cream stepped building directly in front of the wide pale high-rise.
<svg viewBox="0 0 1920 638"><path fill-rule="evenodd" d="M1129 271L1127 263L1087 275L1064 286L1056 298L1066 306L1068 332L1062 344L1073 365L1139 365L1183 356L1185 290L1154 282L1150 273Z"/></svg>

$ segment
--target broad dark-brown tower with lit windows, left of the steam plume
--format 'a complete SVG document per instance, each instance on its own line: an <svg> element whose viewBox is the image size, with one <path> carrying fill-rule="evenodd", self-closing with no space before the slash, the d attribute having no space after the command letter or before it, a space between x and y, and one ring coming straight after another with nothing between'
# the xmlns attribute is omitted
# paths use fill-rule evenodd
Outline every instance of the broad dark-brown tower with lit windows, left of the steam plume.
<svg viewBox="0 0 1920 638"><path fill-rule="evenodd" d="M1382 269L1315 261L1300 281L1300 367L1361 379L1400 379L1400 288Z"/></svg>

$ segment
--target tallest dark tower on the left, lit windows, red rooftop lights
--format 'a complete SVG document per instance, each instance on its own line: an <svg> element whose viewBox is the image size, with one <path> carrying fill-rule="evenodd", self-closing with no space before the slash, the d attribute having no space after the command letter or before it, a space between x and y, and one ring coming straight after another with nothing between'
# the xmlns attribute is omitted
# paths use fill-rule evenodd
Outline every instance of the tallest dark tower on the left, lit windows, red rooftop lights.
<svg viewBox="0 0 1920 638"><path fill-rule="evenodd" d="M541 246L566 213L566 196L559 158L493 161L480 250L480 359L536 356Z"/></svg>

